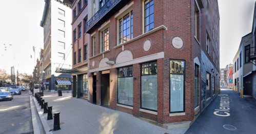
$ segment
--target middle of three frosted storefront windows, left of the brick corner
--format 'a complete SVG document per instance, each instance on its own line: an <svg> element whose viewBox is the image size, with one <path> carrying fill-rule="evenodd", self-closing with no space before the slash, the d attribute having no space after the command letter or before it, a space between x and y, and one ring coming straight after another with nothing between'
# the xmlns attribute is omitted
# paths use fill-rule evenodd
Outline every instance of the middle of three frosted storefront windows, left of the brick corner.
<svg viewBox="0 0 256 134"><path fill-rule="evenodd" d="M141 108L157 111L157 62L142 64Z"/></svg>

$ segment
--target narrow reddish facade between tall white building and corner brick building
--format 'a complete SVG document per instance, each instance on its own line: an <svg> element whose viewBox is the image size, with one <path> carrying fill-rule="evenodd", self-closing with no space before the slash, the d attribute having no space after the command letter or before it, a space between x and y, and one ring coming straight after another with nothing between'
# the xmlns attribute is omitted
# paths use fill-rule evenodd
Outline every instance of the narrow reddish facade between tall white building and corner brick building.
<svg viewBox="0 0 256 134"><path fill-rule="evenodd" d="M88 18L87 1L72 3L72 95L76 98L88 99L88 38L86 23Z"/></svg>

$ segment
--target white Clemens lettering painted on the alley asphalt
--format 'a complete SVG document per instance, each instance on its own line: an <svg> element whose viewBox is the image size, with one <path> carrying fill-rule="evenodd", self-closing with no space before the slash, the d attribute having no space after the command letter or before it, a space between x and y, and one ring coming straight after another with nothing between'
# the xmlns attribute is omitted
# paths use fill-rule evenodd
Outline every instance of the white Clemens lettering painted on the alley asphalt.
<svg viewBox="0 0 256 134"><path fill-rule="evenodd" d="M228 112L230 112L229 111L230 108L229 108L229 97L228 97L228 95L221 94L219 96L221 96L220 109L215 109L213 114L216 115L216 116L223 116L223 117L230 116L230 114L228 113Z"/></svg>

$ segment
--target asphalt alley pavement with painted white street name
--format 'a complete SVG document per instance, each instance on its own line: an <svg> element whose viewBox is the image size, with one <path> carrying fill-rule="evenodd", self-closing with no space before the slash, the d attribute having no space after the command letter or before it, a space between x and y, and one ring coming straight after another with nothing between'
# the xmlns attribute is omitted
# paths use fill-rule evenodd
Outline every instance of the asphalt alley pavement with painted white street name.
<svg viewBox="0 0 256 134"><path fill-rule="evenodd" d="M229 102L229 104L228 104ZM221 108L222 107L222 108ZM214 114L215 112L215 114ZM256 133L256 102L242 99L240 93L222 88L221 94L206 107L186 131L187 134ZM224 125L231 125L225 126ZM230 130L231 129L231 130Z"/></svg>

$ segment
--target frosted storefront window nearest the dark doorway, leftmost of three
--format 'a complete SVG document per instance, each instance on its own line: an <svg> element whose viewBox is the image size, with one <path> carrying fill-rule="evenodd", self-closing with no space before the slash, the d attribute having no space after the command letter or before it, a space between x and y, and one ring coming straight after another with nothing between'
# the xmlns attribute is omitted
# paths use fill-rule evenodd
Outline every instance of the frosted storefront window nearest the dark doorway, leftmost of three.
<svg viewBox="0 0 256 134"><path fill-rule="evenodd" d="M133 106L133 66L119 69L118 103Z"/></svg>

